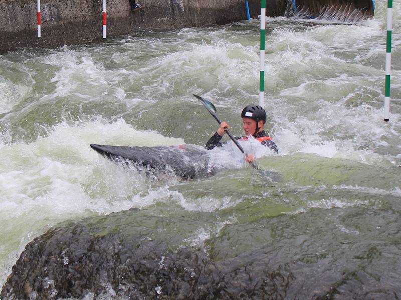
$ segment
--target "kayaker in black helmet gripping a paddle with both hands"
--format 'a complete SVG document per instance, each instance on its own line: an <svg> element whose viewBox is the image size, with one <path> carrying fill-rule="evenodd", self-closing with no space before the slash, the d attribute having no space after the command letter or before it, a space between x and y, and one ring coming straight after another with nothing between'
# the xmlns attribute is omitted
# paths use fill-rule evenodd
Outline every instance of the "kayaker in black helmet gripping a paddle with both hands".
<svg viewBox="0 0 401 300"><path fill-rule="evenodd" d="M245 106L245 108L241 112L241 117L243 121L243 128L245 131L245 136L236 137L236 139L247 140L249 136L255 137L257 140L261 142L262 145L269 147L278 153L277 145L272 140L270 136L267 135L264 129L264 125L266 123L266 111L262 106L256 104L250 104ZM224 128L230 130L230 126L227 122L221 122L220 127L217 129L216 133L208 140L206 143L206 148L208 150L213 149L214 147L221 147L222 143L220 140L223 135L226 134ZM253 154L247 155L245 157L247 161L254 161L255 157Z"/></svg>

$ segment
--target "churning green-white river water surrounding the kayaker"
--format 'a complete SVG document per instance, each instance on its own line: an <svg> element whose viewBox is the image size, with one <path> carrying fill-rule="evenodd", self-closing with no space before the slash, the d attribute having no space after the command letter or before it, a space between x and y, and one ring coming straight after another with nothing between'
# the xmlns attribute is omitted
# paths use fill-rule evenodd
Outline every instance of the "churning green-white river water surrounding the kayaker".
<svg viewBox="0 0 401 300"><path fill-rule="evenodd" d="M230 143L211 152L224 169L189 181L89 147L204 145L217 123L193 93L241 135L241 109L258 102L258 20L0 55L0 286L47 229L137 207L202 213L196 228L171 229L182 244L216 260L264 249L272 265L313 275L300 295L331 284L340 297L401 296L400 4L388 123L384 1L356 24L267 19L266 127L280 153L247 146L262 172Z"/></svg>

